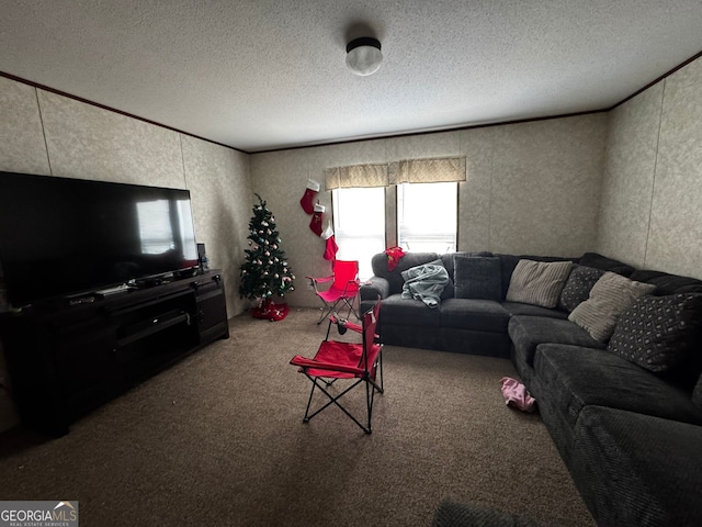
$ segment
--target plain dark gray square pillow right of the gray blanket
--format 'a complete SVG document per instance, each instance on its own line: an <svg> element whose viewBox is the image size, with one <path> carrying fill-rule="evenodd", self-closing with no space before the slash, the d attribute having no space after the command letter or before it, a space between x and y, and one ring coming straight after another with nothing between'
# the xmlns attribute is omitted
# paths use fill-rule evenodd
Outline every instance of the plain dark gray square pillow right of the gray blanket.
<svg viewBox="0 0 702 527"><path fill-rule="evenodd" d="M500 259L453 256L453 295L456 299L496 300L502 294Z"/></svg>

